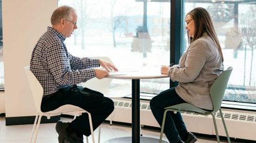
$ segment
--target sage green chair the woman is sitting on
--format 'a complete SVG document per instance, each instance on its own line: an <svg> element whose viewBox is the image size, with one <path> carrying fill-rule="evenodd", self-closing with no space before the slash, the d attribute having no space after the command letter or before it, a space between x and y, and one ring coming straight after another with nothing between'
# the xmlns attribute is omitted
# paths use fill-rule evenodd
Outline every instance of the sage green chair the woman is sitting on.
<svg viewBox="0 0 256 143"><path fill-rule="evenodd" d="M222 104L222 99L225 93L225 89L227 86L227 83L229 81L229 77L231 75L233 68L229 67L227 70L223 71L220 76L214 81L212 86L210 87L210 96L212 98L212 103L214 104L214 110L213 111L205 111L204 109L197 108L196 106L189 104L189 103L182 103L182 104L177 104L174 106L169 106L165 108L164 111L164 118L162 121L162 128L161 128L161 133L160 133L160 139L159 143L162 142L162 135L164 132L164 124L165 124L165 118L166 118L166 113L168 111L174 111L174 112L186 112L186 113L196 113L196 114L201 114L201 115L212 115L212 119L214 120L214 128L217 136L217 141L220 142L219 134L218 134L218 129L216 125L216 120L214 114L219 110L220 111L220 116L225 128L225 132L227 135L227 140L230 143L229 139L229 134L227 132L227 127L225 125L225 121L223 118L222 110L220 109L220 106Z"/></svg>

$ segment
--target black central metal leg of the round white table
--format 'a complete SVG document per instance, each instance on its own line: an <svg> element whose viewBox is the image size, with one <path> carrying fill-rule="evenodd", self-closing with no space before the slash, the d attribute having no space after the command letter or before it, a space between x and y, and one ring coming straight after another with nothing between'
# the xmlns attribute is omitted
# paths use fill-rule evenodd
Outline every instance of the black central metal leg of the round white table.
<svg viewBox="0 0 256 143"><path fill-rule="evenodd" d="M132 143L140 142L140 80L132 79Z"/></svg>

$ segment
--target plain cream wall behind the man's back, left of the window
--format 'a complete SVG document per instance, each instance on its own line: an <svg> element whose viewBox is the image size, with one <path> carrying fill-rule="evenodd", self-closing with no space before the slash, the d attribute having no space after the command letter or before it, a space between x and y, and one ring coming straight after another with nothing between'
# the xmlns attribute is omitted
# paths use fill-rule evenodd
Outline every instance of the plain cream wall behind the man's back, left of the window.
<svg viewBox="0 0 256 143"><path fill-rule="evenodd" d="M36 114L23 68L29 65L37 40L51 25L56 7L57 0L2 1L6 118Z"/></svg>

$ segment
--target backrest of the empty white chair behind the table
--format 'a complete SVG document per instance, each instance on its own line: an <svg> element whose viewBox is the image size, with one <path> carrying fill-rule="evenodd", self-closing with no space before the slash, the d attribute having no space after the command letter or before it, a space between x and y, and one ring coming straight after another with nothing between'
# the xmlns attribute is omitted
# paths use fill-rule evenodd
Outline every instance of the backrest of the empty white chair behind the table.
<svg viewBox="0 0 256 143"><path fill-rule="evenodd" d="M114 64L109 57L91 57L91 58L99 58L102 60L106 60L111 64ZM103 78L101 80L99 80L98 78L92 78L91 80L88 80L85 83L81 83L81 85L83 87L90 88L91 90L96 90L101 92L102 89L109 88L111 81L112 81L111 78Z"/></svg>

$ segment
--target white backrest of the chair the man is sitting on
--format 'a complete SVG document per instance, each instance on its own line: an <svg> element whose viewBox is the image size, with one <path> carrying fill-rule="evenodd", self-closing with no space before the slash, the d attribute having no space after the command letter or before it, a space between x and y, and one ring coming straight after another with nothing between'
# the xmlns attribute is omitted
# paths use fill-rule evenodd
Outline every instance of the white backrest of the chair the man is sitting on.
<svg viewBox="0 0 256 143"><path fill-rule="evenodd" d="M42 85L39 83L36 76L34 76L34 74L31 72L29 66L24 67L24 70L27 75L27 80L29 81L29 86L37 112L41 113L41 101L44 90L42 89Z"/></svg>

